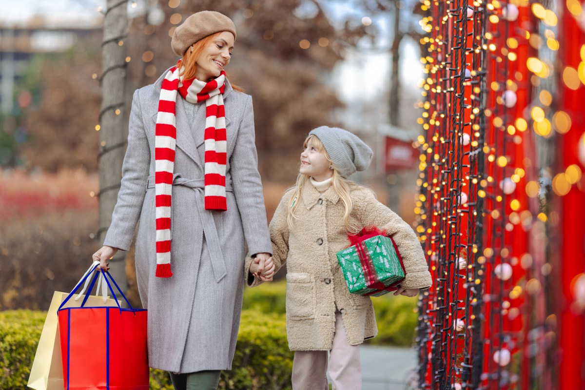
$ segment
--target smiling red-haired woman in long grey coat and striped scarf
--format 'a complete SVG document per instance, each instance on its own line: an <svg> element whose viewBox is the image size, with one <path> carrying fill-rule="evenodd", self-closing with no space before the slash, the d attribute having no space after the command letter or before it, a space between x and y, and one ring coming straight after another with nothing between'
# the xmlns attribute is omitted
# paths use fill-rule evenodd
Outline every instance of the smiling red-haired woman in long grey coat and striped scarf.
<svg viewBox="0 0 585 390"><path fill-rule="evenodd" d="M122 187L93 256L107 269L129 249L140 219L136 274L149 310L149 364L170 371L176 389L215 389L220 370L230 370L246 245L259 275L272 251L252 98L223 71L235 38L232 20L212 11L175 30L181 61L134 94Z"/></svg>

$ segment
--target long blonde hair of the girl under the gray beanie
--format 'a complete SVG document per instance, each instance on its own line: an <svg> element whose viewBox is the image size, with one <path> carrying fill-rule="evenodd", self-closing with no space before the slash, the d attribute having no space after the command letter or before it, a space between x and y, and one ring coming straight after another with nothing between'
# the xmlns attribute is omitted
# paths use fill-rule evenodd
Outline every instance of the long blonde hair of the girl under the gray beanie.
<svg viewBox="0 0 585 390"><path fill-rule="evenodd" d="M345 206L345 212L343 213L343 226L345 226L347 232L357 233L360 230L359 226L352 225L352 223L349 222L349 215L352 213L353 210L353 202L349 194L355 189L362 188L362 186L339 174L338 169L335 167L335 164L333 164L333 161L331 161L331 158L329 157L329 154L327 154L325 146L323 146L323 143L321 142L319 137L315 136L314 134L309 135L307 139L305 139L305 142L303 143L303 148L307 147L309 141L311 141L312 146L314 146L316 150L325 154L325 158L327 158L329 163L331 163L331 166L333 167L332 177L333 180L331 185L333 186L333 189L335 190L336 194L339 196L339 199L341 199L341 201L343 202L343 206ZM304 186L305 182L307 182L308 178L309 178L308 175L304 175L301 173L298 174L297 183L293 187L291 187L294 188L294 192L290 201L290 205L288 207L287 214L287 223L290 229L292 229L292 226L294 225L294 220L298 218L297 216L295 216L294 212L297 209L298 203L301 200L302 187Z"/></svg>

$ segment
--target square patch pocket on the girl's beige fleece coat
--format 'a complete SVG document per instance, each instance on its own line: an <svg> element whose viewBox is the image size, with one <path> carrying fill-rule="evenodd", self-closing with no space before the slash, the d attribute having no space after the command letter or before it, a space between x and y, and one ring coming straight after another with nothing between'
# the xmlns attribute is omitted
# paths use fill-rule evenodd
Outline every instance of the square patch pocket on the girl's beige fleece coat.
<svg viewBox="0 0 585 390"><path fill-rule="evenodd" d="M315 317L315 281L311 274L287 273L287 318L291 320Z"/></svg>

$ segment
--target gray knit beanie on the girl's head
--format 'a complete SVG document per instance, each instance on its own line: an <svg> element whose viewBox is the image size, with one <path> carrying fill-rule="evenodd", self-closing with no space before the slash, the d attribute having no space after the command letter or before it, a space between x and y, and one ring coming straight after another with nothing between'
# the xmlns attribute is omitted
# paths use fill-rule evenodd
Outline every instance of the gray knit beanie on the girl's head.
<svg viewBox="0 0 585 390"><path fill-rule="evenodd" d="M311 130L325 146L329 158L343 177L355 171L364 171L370 166L373 152L355 134L338 127L319 126Z"/></svg>

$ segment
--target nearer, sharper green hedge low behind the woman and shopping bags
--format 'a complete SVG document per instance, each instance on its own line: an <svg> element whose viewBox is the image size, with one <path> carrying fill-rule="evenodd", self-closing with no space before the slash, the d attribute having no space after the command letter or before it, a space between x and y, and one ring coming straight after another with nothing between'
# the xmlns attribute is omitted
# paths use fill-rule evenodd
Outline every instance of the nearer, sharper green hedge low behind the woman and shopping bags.
<svg viewBox="0 0 585 390"><path fill-rule="evenodd" d="M46 312L0 312L0 389L25 389ZM221 390L290 390L292 352L283 315L242 312L232 371ZM150 371L150 388L172 390L167 372Z"/></svg>

